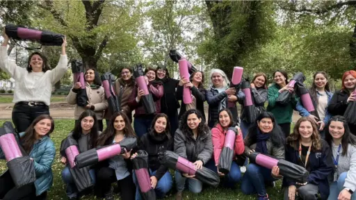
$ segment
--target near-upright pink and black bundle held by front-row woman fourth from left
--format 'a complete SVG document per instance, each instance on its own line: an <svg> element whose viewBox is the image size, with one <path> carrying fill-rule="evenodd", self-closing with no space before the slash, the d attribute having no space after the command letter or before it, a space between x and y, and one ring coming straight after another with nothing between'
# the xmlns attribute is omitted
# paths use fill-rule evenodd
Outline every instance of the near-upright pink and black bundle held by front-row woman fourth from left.
<svg viewBox="0 0 356 200"><path fill-rule="evenodd" d="M156 192L151 187L151 179L149 178L148 169L148 153L143 150L137 151L137 156L132 159L133 172L136 174L138 186L142 199L156 199Z"/></svg>

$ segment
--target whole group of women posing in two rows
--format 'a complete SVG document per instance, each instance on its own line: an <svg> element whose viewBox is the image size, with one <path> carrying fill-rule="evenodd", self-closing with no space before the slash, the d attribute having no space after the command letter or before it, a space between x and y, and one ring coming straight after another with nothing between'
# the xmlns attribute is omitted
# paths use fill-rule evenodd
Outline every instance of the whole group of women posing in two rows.
<svg viewBox="0 0 356 200"><path fill-rule="evenodd" d="M49 138L54 131L54 121L49 117L49 100L51 85L67 70L65 38L58 66L51 70L41 53L32 53L26 68L10 62L6 51L8 37L6 34L3 37L0 68L17 81L13 123L21 136L20 144L33 160L36 181L16 188L12 178L5 173L0 177L0 199L46 199L47 190L53 183L51 165L56 152L54 142ZM149 176L156 197L165 197L172 189L173 178L168 168L159 163L159 153L169 150L191 161L196 169L207 167L216 172L223 187L233 189L240 183L241 192L256 194L257 199L269 199L266 188L273 187L280 178L283 178L284 199L356 199L353 195L356 189L356 126L342 117L348 103L356 101L353 93L355 71L343 74L342 88L335 94L330 91L325 72L314 74L310 94L318 117L302 106L300 98L288 85L286 72L277 70L273 74L274 83L269 86L266 74L257 73L250 83L249 94L256 108L257 117L253 121L249 121L244 108L245 93L239 88L229 88L229 79L220 69L211 70L209 88L204 88L203 72L194 72L178 81L163 67L147 67L145 75L156 107L156 113L150 115L145 113L140 101L145 92L136 85L130 67L121 69L114 84L121 106L117 113L108 110L96 70L88 69L85 73L88 105L76 105L76 123L68 135L78 142L79 151L117 143L125 138L138 138L138 147L126 149L124 153L90 167L97 197L113 199L112 183L116 182L121 199L141 199L131 163L138 150L145 150L149 155ZM68 103L76 104L76 94L81 86L81 83L74 83L67 96ZM193 101L182 101L179 105L184 88L190 88ZM288 103L281 105L277 98L284 90L293 95ZM209 105L208 116L204 114L204 101ZM240 117L237 103L241 104ZM298 110L302 117L291 133L293 110ZM106 119L105 130L103 119ZM232 126L239 126L235 129L234 159L229 173L223 174L218 162L227 129ZM252 151L305 167L309 172L307 182L296 183L283 177L277 166L267 169L255 163L248 164L246 156ZM3 157L1 149L0 157ZM83 192L79 192L74 184L65 155L61 155L60 162L65 165L62 178L67 197L80 199ZM242 165L246 170L241 172ZM194 176L179 170L174 175L176 199L183 199L186 188L193 193L202 191L202 182Z"/></svg>

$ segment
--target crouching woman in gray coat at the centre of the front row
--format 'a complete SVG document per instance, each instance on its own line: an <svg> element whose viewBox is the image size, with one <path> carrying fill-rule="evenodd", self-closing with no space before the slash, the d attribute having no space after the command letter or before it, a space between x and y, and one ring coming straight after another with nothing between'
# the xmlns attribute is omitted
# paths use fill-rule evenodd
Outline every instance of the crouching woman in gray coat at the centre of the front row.
<svg viewBox="0 0 356 200"><path fill-rule="evenodd" d="M187 110L181 117L179 128L175 132L175 153L192 162L197 169L202 169L202 166L210 160L211 154L213 154L211 132L209 127L204 124L199 111ZM175 171L177 200L183 199L182 192L186 182L191 192L200 193L202 191L202 182L195 179L194 175L189 176Z"/></svg>

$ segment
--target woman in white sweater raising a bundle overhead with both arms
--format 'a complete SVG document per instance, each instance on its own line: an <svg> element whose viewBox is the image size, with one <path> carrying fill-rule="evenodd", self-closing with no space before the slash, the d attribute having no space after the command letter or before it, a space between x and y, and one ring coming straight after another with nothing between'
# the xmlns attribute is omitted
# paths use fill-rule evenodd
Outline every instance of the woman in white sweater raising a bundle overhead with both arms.
<svg viewBox="0 0 356 200"><path fill-rule="evenodd" d="M33 119L49 115L52 86L67 72L67 55L63 38L62 52L56 68L51 70L47 58L40 52L31 53L26 68L19 67L8 58L8 35L3 32L0 47L0 68L15 79L13 123L17 133L26 131Z"/></svg>

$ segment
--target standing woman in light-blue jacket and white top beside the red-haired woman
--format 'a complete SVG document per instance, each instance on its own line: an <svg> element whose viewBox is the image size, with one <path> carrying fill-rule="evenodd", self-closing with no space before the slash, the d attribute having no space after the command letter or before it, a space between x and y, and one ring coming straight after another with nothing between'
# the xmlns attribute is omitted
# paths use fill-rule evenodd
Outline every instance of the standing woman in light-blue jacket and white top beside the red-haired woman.
<svg viewBox="0 0 356 200"><path fill-rule="evenodd" d="M331 101L332 92L329 86L329 78L327 78L325 72L316 72L313 76L313 80L312 88L309 89L309 93L320 119L310 114L307 109L302 106L300 101L297 102L296 110L298 110L300 116L309 117L315 124L318 124L321 138L325 138L323 130L331 117L330 113L327 112L327 105L329 105Z"/></svg>

